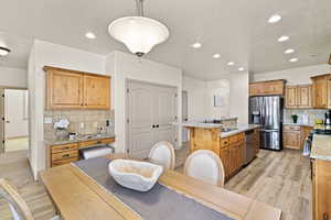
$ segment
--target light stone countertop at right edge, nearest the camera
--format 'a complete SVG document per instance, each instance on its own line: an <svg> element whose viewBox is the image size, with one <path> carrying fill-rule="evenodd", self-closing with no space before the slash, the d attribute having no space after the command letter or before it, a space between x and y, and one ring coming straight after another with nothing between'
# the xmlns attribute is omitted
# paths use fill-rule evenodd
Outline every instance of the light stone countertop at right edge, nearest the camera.
<svg viewBox="0 0 331 220"><path fill-rule="evenodd" d="M310 158L331 161L331 135L313 134Z"/></svg>

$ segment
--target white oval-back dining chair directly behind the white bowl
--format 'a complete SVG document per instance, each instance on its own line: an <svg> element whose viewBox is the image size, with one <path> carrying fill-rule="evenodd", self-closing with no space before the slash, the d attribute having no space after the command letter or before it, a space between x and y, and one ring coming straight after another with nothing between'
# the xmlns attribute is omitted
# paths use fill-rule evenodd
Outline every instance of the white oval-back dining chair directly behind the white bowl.
<svg viewBox="0 0 331 220"><path fill-rule="evenodd" d="M149 152L148 161L163 166L166 169L174 169L174 147L168 141L156 143Z"/></svg>

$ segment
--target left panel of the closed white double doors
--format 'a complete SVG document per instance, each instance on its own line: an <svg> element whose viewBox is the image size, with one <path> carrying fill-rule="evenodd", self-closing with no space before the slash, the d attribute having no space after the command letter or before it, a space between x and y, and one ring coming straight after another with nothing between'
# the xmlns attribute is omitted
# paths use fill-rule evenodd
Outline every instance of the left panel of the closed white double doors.
<svg viewBox="0 0 331 220"><path fill-rule="evenodd" d="M129 154L147 157L154 143L154 95L147 84L129 84Z"/></svg>

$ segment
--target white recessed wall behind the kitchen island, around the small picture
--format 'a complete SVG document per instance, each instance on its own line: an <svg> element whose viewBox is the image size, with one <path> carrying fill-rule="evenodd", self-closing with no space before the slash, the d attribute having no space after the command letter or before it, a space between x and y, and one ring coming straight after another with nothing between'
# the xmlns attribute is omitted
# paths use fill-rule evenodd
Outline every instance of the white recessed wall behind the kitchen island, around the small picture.
<svg viewBox="0 0 331 220"><path fill-rule="evenodd" d="M183 90L188 91L188 111L190 121L202 121L206 119L228 117L228 79L204 81L185 76L183 77ZM223 98L223 107L214 107L215 95Z"/></svg>

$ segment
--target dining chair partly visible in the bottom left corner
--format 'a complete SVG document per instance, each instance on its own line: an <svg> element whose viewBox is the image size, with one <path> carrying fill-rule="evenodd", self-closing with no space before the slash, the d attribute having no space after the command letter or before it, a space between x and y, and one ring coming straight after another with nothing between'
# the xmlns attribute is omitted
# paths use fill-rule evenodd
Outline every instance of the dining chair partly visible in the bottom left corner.
<svg viewBox="0 0 331 220"><path fill-rule="evenodd" d="M0 200L1 199L4 199L9 205L13 220L34 220L30 208L20 195L18 188L3 178L0 178ZM52 220L61 220L61 218L55 216Z"/></svg>

